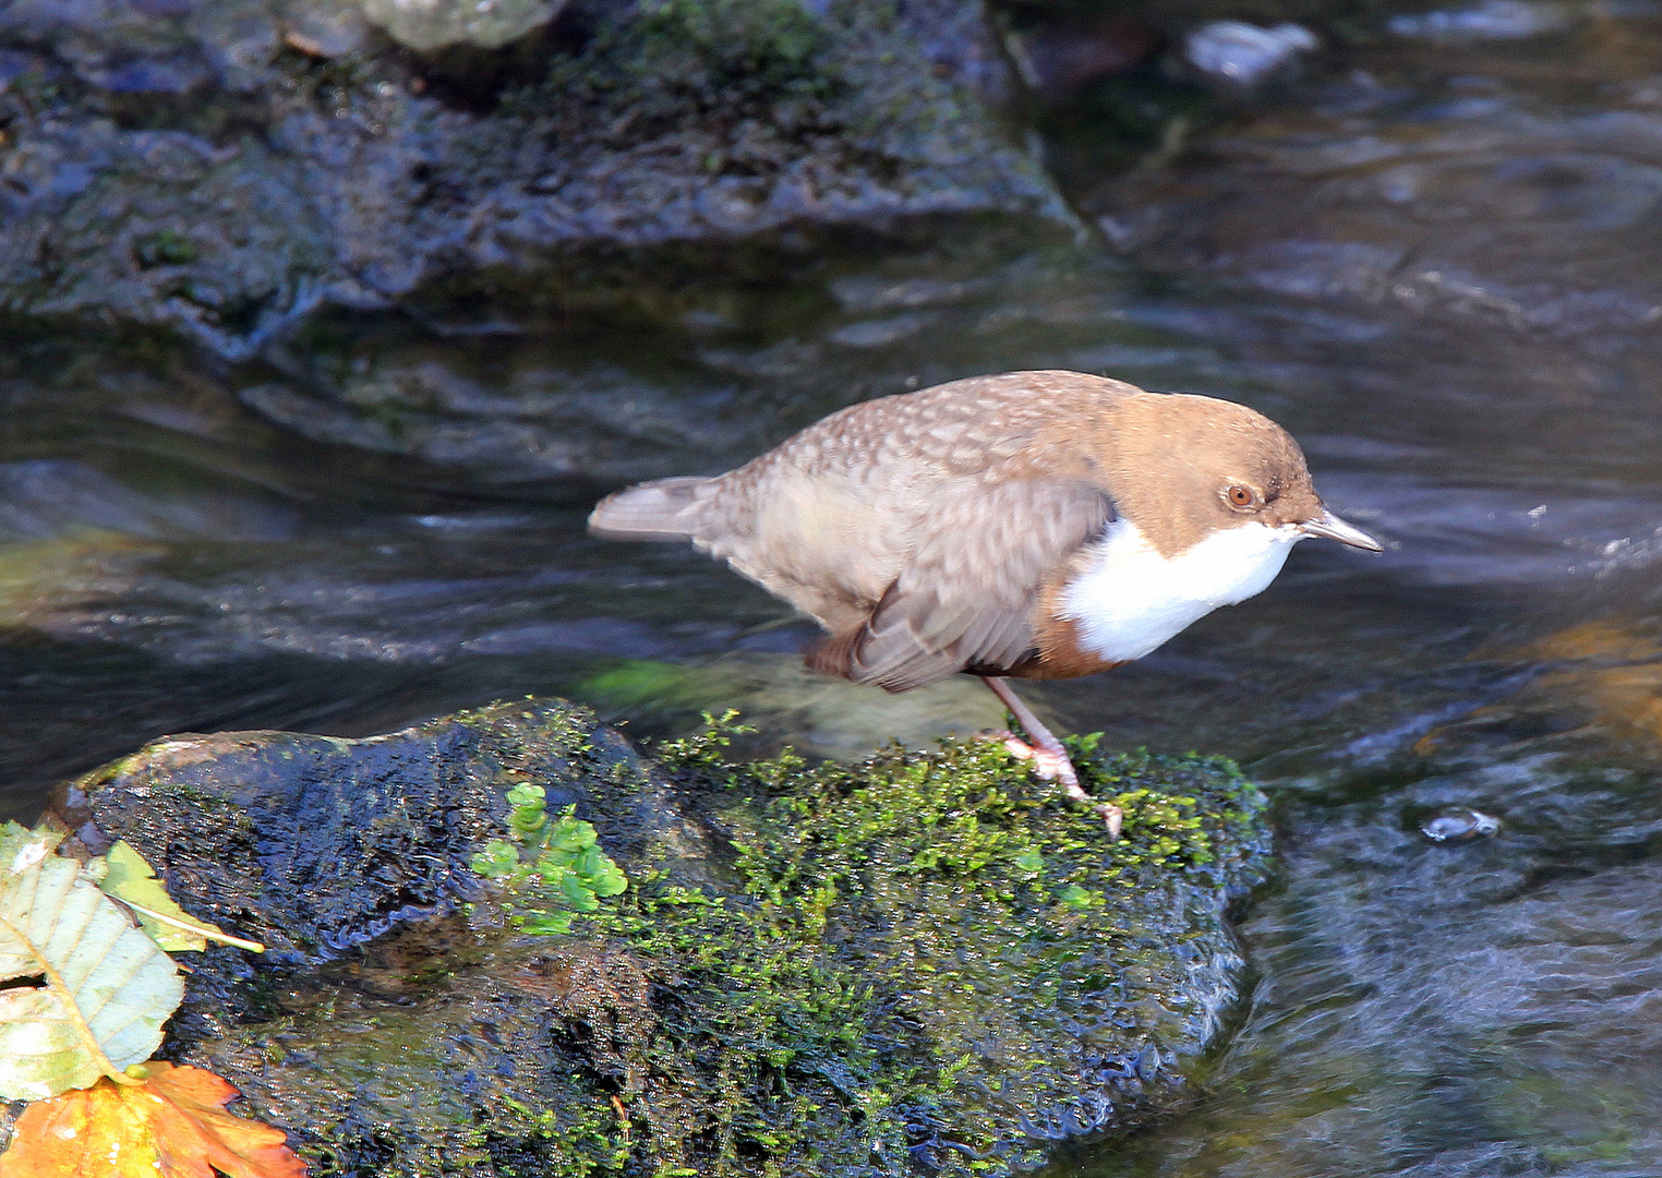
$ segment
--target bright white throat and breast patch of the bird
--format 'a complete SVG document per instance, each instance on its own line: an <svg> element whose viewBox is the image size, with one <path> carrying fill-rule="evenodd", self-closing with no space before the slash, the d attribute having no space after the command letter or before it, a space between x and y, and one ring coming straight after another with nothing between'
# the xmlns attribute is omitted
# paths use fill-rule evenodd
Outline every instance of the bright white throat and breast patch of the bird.
<svg viewBox="0 0 1662 1178"><path fill-rule="evenodd" d="M1162 557L1130 520L1109 527L1095 563L1062 591L1080 646L1110 663L1142 658L1220 605L1261 593L1303 535L1242 523Z"/></svg>

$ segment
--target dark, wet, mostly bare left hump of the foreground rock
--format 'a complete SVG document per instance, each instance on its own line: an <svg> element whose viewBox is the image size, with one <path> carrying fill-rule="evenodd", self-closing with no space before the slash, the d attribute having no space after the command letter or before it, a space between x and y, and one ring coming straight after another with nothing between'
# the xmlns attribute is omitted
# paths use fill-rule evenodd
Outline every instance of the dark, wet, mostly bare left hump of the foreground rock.
<svg viewBox="0 0 1662 1178"><path fill-rule="evenodd" d="M637 763L617 734L592 734L575 719L560 726L560 709L522 718L537 741L529 753L510 741L517 714L469 714L362 741L170 738L76 789L110 837L163 849L156 832L165 831L168 882L231 919L251 914L271 960L321 962L477 899L484 889L469 857L500 826L504 786L562 778L575 786L585 778L570 761L578 749ZM510 731L482 738L479 724L492 723ZM668 801L643 812L666 819ZM608 832L625 847L645 839L622 817Z"/></svg>

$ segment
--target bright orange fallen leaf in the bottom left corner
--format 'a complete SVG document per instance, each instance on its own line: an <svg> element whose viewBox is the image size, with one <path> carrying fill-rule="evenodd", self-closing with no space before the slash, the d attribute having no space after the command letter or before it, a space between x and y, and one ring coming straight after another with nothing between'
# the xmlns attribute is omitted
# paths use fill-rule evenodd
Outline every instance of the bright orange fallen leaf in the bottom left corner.
<svg viewBox="0 0 1662 1178"><path fill-rule="evenodd" d="M146 1063L143 1083L100 1080L23 1110L0 1178L306 1178L283 1130L233 1117L213 1072Z"/></svg>

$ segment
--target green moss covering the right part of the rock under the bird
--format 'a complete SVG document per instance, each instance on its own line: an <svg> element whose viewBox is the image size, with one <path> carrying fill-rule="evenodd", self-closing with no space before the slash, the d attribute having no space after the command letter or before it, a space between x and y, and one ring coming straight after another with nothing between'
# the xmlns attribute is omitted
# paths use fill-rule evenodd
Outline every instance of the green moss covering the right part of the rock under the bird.
<svg viewBox="0 0 1662 1178"><path fill-rule="evenodd" d="M1138 1060L1203 1038L1173 947L1220 932L1265 841L1233 764L1079 741L1125 809L1110 844L994 744L728 764L731 721L661 749L713 791L725 877L637 864L590 922L670 995L618 1093L627 1171L1004 1171L1040 1160L1034 1128L1117 1126L1094 1073L1127 1080L1125 1112ZM558 1173L618 1165L615 1135L583 1140Z"/></svg>

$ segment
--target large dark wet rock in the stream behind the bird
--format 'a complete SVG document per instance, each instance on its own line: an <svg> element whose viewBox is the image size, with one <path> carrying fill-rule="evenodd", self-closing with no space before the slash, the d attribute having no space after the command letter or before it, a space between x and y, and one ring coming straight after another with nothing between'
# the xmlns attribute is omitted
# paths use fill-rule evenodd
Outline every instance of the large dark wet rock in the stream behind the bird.
<svg viewBox="0 0 1662 1178"><path fill-rule="evenodd" d="M595 251L640 281L733 243L1067 219L999 123L979 3L40 0L0 13L0 306L223 357L417 292L558 307Z"/></svg>

